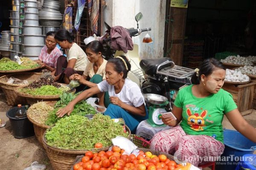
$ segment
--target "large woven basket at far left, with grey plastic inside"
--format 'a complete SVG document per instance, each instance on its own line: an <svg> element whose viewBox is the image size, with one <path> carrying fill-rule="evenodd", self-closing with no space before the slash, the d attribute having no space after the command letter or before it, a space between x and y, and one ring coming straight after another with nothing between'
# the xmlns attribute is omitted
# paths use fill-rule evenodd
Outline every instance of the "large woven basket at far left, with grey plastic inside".
<svg viewBox="0 0 256 170"><path fill-rule="evenodd" d="M41 75L41 73L16 73L0 77L0 87L2 88L6 96L7 105L27 104L25 98L18 96L14 92L15 88L23 85L7 83L10 77L15 77L20 80L27 80L28 82L33 82L36 79L39 79Z"/></svg>

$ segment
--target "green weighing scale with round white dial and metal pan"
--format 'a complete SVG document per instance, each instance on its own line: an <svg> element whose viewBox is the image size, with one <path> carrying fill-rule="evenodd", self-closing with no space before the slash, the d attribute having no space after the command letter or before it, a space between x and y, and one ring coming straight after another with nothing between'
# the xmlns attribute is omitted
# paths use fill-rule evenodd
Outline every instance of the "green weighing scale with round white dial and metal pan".
<svg viewBox="0 0 256 170"><path fill-rule="evenodd" d="M167 112L165 106L169 104L165 96L158 94L144 94L145 101L150 103L147 122L152 127L166 126L163 124L161 113Z"/></svg>

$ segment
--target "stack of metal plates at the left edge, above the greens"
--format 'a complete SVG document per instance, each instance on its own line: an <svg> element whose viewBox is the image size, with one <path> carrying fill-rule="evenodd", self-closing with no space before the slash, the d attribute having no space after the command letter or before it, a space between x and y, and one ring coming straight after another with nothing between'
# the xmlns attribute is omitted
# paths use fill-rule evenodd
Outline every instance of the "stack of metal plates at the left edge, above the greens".
<svg viewBox="0 0 256 170"><path fill-rule="evenodd" d="M10 57L10 31L2 31L2 38L0 39L0 54L3 57Z"/></svg>

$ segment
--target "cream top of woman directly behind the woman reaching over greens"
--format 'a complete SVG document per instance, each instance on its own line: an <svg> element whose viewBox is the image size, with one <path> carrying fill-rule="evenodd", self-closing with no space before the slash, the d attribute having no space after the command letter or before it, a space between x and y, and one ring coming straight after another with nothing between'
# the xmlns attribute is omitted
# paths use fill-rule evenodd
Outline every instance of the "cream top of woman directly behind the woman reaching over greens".
<svg viewBox="0 0 256 170"><path fill-rule="evenodd" d="M103 59L103 63L102 63L102 65L99 66L99 69L96 73L94 73L94 71L93 71L93 63L89 62L84 70L84 76L89 76L90 78L92 78L95 74L99 74L102 76L102 79L106 79L105 68L106 68L107 62L108 62L107 60Z"/></svg>

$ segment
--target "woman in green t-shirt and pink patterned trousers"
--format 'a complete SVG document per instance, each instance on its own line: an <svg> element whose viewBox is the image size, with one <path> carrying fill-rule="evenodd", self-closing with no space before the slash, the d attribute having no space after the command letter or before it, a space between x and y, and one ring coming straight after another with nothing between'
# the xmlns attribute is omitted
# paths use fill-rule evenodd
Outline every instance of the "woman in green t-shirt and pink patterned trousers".
<svg viewBox="0 0 256 170"><path fill-rule="evenodd" d="M256 129L241 116L232 95L221 88L225 75L221 62L204 60L200 69L195 69L192 85L177 94L172 109L177 120L162 116L163 122L172 128L155 134L150 148L174 154L178 160L195 166L221 156L224 114L236 130L256 142Z"/></svg>

